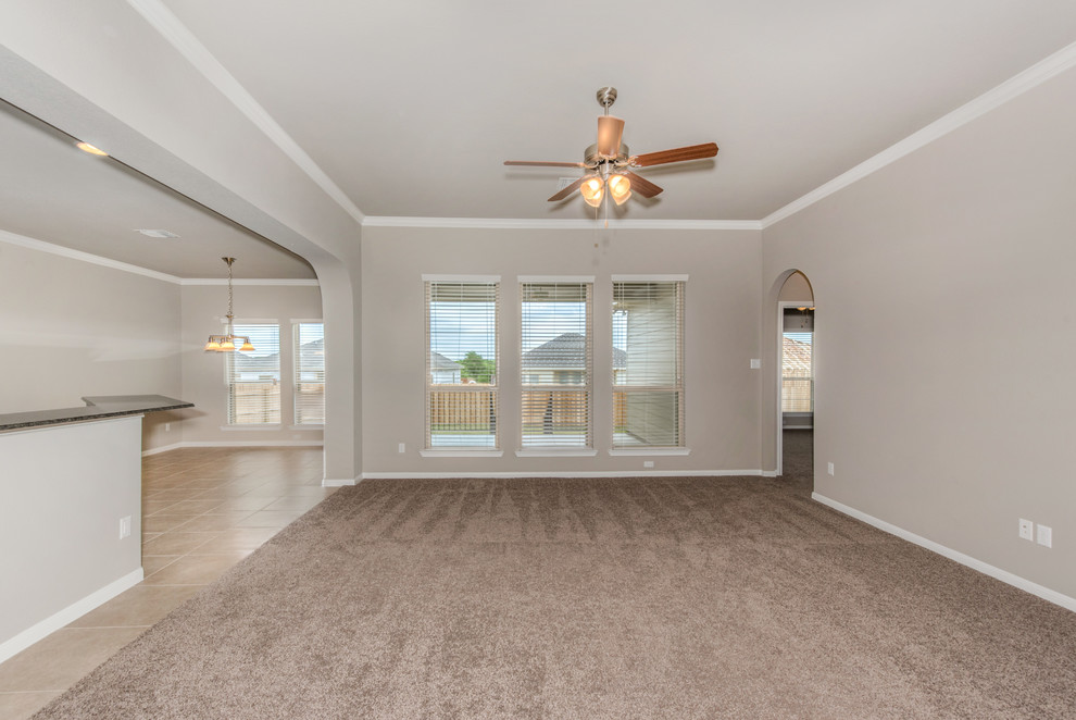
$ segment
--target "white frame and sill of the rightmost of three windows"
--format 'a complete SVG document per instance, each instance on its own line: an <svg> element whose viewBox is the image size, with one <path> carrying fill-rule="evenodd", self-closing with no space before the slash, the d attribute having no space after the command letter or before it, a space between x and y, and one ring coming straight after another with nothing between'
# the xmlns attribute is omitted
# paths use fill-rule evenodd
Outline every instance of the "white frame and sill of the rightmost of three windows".
<svg viewBox="0 0 1076 720"><path fill-rule="evenodd" d="M609 450L610 456L686 456L690 455L691 449L687 447L687 427L686 427L686 388L685 388L685 320L684 315L687 308L687 282L688 275L686 274L675 274L675 275L613 275L611 277L612 282L612 301L610 303L610 383L611 383L611 411L613 413L612 420L612 437L610 438L612 443L612 449ZM618 385L616 384L615 370L613 368L613 350L614 345L612 344L613 337L613 315L615 310L615 298L616 298L616 284L618 283L673 283L676 284L676 299L674 306L675 313L675 332L676 332L676 365L674 372L674 382L667 385L646 385L646 386L633 386L633 385ZM678 445L626 445L616 443L616 394L617 393L647 393L647 392L670 392L676 394L677 402L677 415L676 415L676 435Z"/></svg>

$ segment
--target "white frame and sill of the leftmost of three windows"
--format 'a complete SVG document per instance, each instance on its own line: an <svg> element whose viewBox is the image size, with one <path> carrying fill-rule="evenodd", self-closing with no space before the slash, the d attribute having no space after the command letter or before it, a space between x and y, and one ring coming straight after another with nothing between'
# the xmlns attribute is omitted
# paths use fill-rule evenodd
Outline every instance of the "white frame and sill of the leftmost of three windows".
<svg viewBox="0 0 1076 720"><path fill-rule="evenodd" d="M500 333L501 333L501 276L500 275L434 275L424 274L422 276L423 281L423 332L425 334L424 352L425 352L425 400L423 407L423 424L425 426L424 433L424 448L418 451L418 455L424 458L438 458L438 457L455 457L455 458L499 458L504 455L503 449L501 449L501 409L500 409L500 378L498 377L501 371L501 359L500 359ZM431 382L431 369L430 369L430 357L431 357L431 343L429 335L429 310L430 310L430 288L431 285L438 283L447 284L475 284L475 285L492 285L493 286L493 362L497 371L495 372L492 383L490 385L476 385L475 387L468 387L467 385L459 385L452 389L452 392L459 393L491 393L492 404L493 404L493 446L492 447L431 447L431 431L430 431L430 398L434 392L435 385ZM443 385L438 385L443 389Z"/></svg>

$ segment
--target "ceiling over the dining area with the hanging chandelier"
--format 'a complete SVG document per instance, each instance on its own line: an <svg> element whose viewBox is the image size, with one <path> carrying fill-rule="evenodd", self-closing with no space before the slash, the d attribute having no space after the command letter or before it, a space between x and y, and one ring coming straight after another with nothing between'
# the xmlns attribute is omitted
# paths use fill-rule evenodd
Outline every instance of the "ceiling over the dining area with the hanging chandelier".
<svg viewBox="0 0 1076 720"><path fill-rule="evenodd" d="M0 229L177 277L312 278L304 260L0 102ZM166 229L174 239L135 231Z"/></svg>

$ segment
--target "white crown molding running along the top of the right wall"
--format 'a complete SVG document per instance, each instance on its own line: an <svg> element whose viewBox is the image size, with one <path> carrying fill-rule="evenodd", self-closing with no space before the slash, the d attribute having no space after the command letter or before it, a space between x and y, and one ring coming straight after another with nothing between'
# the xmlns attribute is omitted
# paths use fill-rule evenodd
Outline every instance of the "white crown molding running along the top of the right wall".
<svg viewBox="0 0 1076 720"><path fill-rule="evenodd" d="M829 197L834 193L841 190L852 183L863 179L871 173L881 170L886 165L896 162L904 156L915 152L919 148L949 133L966 125L990 112L991 110L1005 104L1010 100L1038 87L1042 83L1056 77L1067 70L1076 67L1076 42L1062 48L1046 60L1042 60L1022 73L1014 75L992 90L987 90L974 100L953 110L948 115L930 123L923 129L912 133L906 138L892 145L873 158L861 162L848 172L838 175L824 185L819 185L803 197L789 202L784 208L770 213L762 219L761 225L765 229L786 218L795 215L800 210L809 208L815 202Z"/></svg>

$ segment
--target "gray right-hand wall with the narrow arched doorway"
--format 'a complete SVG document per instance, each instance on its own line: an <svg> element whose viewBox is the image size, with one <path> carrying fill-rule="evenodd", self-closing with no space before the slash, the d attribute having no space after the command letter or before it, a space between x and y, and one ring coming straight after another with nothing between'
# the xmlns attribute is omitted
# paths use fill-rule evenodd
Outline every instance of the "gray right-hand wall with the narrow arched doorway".
<svg viewBox="0 0 1076 720"><path fill-rule="evenodd" d="M816 492L1069 597L1073 127L1069 71L763 232L767 303L814 287Z"/></svg>

